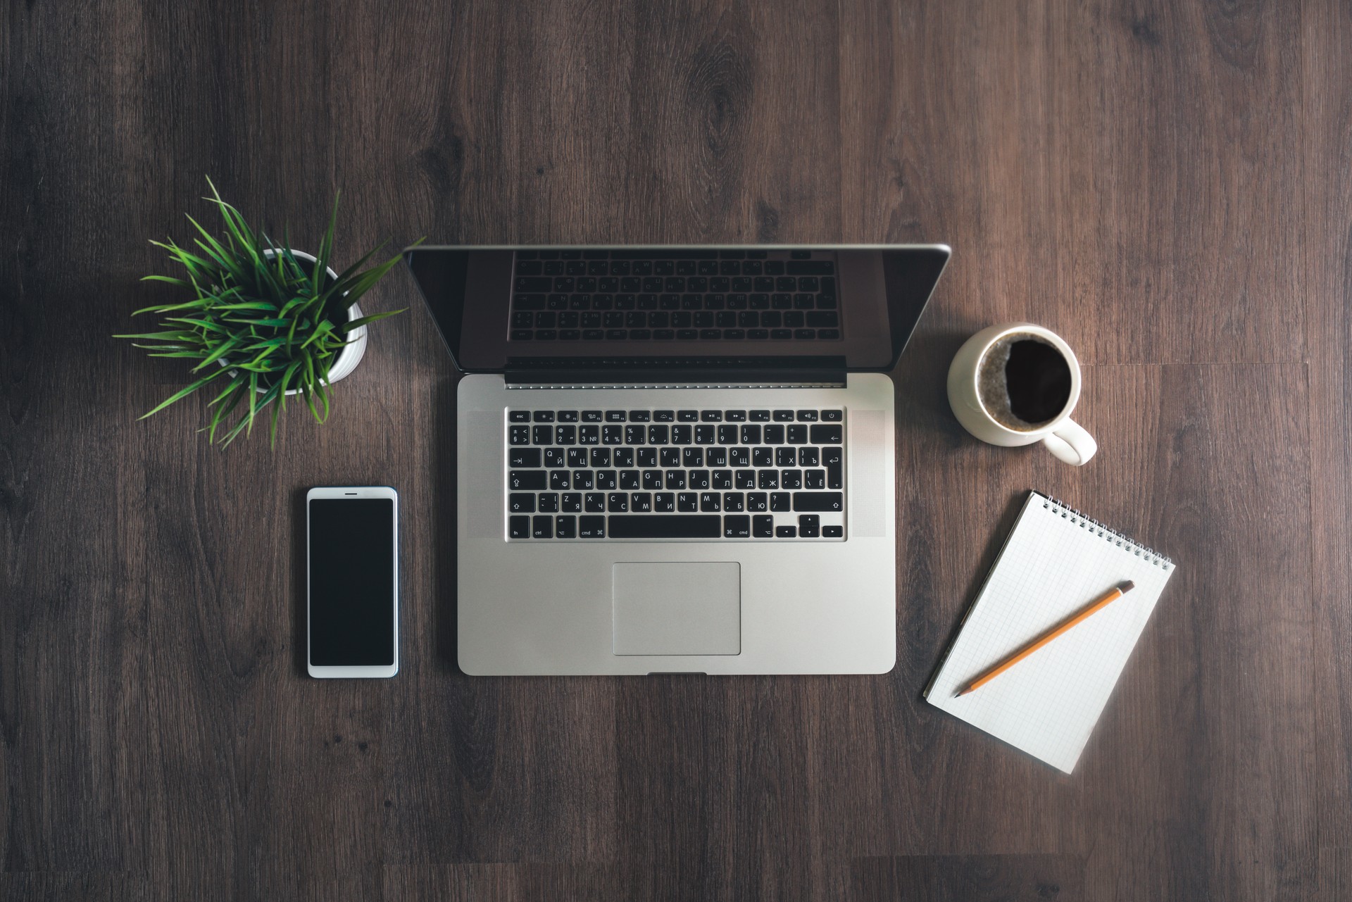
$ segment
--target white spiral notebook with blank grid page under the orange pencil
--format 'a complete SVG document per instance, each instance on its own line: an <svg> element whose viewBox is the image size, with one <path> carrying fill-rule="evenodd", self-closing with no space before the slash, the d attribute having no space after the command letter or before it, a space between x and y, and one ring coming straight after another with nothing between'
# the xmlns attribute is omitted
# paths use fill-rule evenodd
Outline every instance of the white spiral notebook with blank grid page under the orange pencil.
<svg viewBox="0 0 1352 902"><path fill-rule="evenodd" d="M1167 557L1030 492L925 698L1069 774L1172 573ZM1136 588L990 683L955 696L1124 580Z"/></svg>

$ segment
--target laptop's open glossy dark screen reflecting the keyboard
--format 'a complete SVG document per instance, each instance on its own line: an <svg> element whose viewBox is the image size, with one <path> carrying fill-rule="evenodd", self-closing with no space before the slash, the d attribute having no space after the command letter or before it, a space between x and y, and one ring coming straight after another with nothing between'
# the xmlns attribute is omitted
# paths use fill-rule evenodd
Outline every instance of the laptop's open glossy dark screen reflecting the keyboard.
<svg viewBox="0 0 1352 902"><path fill-rule="evenodd" d="M460 246L406 257L464 372L683 360L886 372L949 249Z"/></svg>

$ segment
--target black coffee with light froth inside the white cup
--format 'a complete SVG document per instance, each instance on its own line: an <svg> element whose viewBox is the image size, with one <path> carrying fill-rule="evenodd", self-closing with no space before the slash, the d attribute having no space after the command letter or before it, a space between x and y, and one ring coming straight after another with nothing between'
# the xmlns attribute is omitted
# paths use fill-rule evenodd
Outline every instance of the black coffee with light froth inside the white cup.
<svg viewBox="0 0 1352 902"><path fill-rule="evenodd" d="M1042 338L1014 333L986 352L977 384L982 403L995 422L1029 431L1065 410L1071 400L1071 366Z"/></svg>

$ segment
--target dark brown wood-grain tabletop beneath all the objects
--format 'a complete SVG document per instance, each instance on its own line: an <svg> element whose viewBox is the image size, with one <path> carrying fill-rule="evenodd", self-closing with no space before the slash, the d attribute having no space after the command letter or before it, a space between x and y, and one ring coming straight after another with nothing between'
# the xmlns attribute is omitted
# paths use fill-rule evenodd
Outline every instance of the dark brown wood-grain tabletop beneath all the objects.
<svg viewBox="0 0 1352 902"><path fill-rule="evenodd" d="M1352 897L1352 7L14 0L0 897ZM456 376L406 273L323 427L222 453L110 335L224 196L338 257L945 241L898 380L898 664L470 679ZM1099 457L967 437L1028 319ZM303 675L300 498L404 500L403 672ZM919 691L1028 488L1178 572L1073 776Z"/></svg>

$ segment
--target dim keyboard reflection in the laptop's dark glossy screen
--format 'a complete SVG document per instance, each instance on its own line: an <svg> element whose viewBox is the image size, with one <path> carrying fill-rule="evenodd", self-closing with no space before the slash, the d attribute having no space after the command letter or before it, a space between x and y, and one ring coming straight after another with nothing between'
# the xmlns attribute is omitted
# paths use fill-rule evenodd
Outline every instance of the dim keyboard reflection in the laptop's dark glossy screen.
<svg viewBox="0 0 1352 902"><path fill-rule="evenodd" d="M830 250L515 252L508 341L840 341Z"/></svg>

